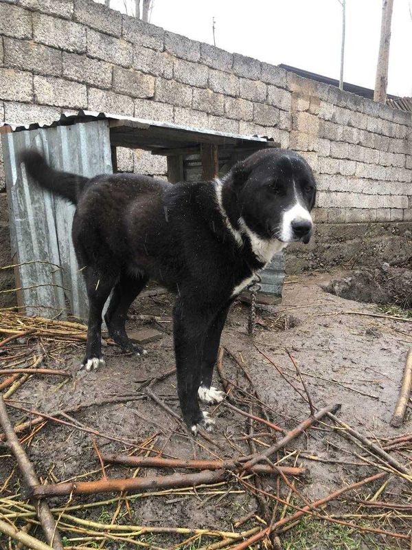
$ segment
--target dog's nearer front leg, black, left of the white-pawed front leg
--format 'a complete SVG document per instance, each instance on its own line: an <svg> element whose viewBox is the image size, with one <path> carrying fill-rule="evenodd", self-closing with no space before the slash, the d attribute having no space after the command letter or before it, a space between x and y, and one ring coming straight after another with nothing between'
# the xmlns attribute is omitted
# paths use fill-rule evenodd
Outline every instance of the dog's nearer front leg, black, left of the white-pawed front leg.
<svg viewBox="0 0 412 550"><path fill-rule="evenodd" d="M177 393L183 420L194 434L198 428L210 430L214 421L198 404L201 385L201 358L209 316L179 298L173 310L174 353L176 355Z"/></svg>

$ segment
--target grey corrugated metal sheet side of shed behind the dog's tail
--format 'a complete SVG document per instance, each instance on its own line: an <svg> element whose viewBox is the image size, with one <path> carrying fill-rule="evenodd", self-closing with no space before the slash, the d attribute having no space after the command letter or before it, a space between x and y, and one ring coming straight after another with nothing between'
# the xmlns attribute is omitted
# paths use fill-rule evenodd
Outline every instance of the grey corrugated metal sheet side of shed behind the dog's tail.
<svg viewBox="0 0 412 550"><path fill-rule="evenodd" d="M31 181L19 153L36 147L58 170L93 177L113 173L107 120L4 133L12 256L29 315L87 318L87 296L71 241L75 207ZM80 266L82 267L82 266Z"/></svg>

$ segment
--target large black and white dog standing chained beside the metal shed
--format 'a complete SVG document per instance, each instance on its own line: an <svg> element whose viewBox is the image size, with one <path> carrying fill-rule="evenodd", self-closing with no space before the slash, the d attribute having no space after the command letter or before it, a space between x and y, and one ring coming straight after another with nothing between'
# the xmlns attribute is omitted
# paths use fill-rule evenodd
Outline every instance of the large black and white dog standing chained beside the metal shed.
<svg viewBox="0 0 412 550"><path fill-rule="evenodd" d="M199 408L222 400L211 386L220 333L234 298L292 241L308 243L315 181L303 157L266 149L220 181L168 184L144 175L88 179L50 168L36 151L21 157L43 188L77 204L73 243L89 296L83 364L102 360L102 309L108 333L126 352L143 353L125 331L126 313L149 278L176 292L173 311L178 393L187 426L214 421Z"/></svg>

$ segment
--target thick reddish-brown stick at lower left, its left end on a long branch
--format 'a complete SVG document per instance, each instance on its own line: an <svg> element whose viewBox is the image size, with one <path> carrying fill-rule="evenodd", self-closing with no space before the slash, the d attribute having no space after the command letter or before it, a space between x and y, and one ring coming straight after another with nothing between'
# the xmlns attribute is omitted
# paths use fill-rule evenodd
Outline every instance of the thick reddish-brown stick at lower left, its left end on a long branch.
<svg viewBox="0 0 412 550"><path fill-rule="evenodd" d="M170 487L192 487L196 485L211 485L225 481L225 470L204 470L196 474L172 474L171 476L137 477L125 479L100 479L98 481L78 481L73 483L58 483L37 485L32 488L36 498L45 496L63 496L69 494L96 494L122 491L141 491L146 489L169 489Z"/></svg>

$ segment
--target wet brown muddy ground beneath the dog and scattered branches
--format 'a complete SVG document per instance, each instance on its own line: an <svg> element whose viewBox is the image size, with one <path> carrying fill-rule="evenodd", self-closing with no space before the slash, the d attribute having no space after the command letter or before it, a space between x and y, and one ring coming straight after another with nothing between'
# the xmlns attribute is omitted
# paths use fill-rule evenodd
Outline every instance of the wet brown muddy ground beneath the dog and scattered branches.
<svg viewBox="0 0 412 550"><path fill-rule="evenodd" d="M305 394L287 353L289 351L302 371L314 405L321 408L328 404L341 404L339 417L343 421L373 439L378 445L383 445L386 439L412 432L411 408L401 428L395 429L390 426L407 351L412 344L411 323L394 318L358 315L357 313L382 315L382 311L377 305L358 303L325 292L323 286L342 276L347 277L350 274L335 272L286 278L282 304L259 309L259 322L253 340L247 335L249 310L246 305L235 303L222 335L222 345L230 354L226 353L224 356L223 375L229 382L229 387L230 383L235 384L234 387L231 386L231 395L236 399L237 406L245 411L251 407L253 414L262 417L258 401L248 397L255 389L264 404L268 418L288 430L309 415L308 403L302 397ZM137 444L145 444L144 441L157 434L149 445L146 443L145 449L153 445L152 453L163 452L163 456L214 458L249 454L251 449L247 440L241 439L248 433L249 421L246 417L229 410L225 403L217 407L203 406L216 418L216 429L211 434L211 438L219 445L216 446L202 437L195 441L188 437L179 421L144 393L144 385L148 381L174 367L171 307L172 297L168 294L138 299L131 311L134 316L155 315L159 316L160 320L148 322L137 318L128 322L129 328L153 327L161 331L162 338L146 345L148 355L144 358L121 355L117 347L108 345L104 348L106 366L97 373L79 370L83 344L69 343L59 349L53 342L43 340L41 345L44 347L43 351L47 352L44 366L67 368L73 379L60 387L61 378L32 377L21 386L13 398L20 404L52 415L60 410L84 406L80 412L73 413L73 422L126 441L113 442L97 437L96 441L102 452L119 452L135 448L135 453L138 453L140 451L136 448ZM38 341L30 340L27 345L35 350ZM282 369L288 381L261 352ZM244 366L253 386L249 384L233 357ZM5 364L0 356L0 365ZM290 383L294 384L302 395L297 393ZM222 388L216 372L214 385ZM165 380L153 384L152 391L179 414L175 386L174 375L170 375ZM243 388L247 393L240 393L236 386ZM100 404L107 399L136 396L139 393L144 397L137 401ZM21 412L11 412L11 409L9 411L13 421L17 422L23 418ZM253 430L256 434L270 431L267 426L256 421L253 423ZM264 450L267 445L271 445L274 437L277 437L275 432L271 436L257 436L258 441L255 444L258 450ZM134 443L128 443L130 440ZM91 435L79 431L76 426L47 423L30 439L27 452L38 475L49 483L77 478L81 474L88 474L84 480L100 476L100 466ZM6 487L3 487L3 495L8 497L21 494L18 476L15 471L12 474L13 459L9 456L7 448L0 448L0 453L1 485L8 480ZM277 455L277 459L286 456L282 464L296 463L307 468L306 475L296 481L296 486L305 498L316 500L345 484L354 483L380 471L374 465L366 463L362 455L362 449L343 438L333 429L332 421L325 419L323 423L318 423L308 430L306 435L293 440L286 448L286 452ZM411 468L411 447L400 452L391 452L391 455ZM371 460L376 462L376 459ZM93 471L97 472L91 474ZM111 467L108 474L113 477L130 476L133 471L133 468ZM153 473L144 470L139 475ZM157 473L170 472L158 470ZM10 474L12 476L8 479ZM389 475L389 480L378 500L411 504L411 482L402 481L396 475ZM261 483L261 488L266 492L277 494L275 478L262 478ZM358 496L369 498L380 485L382 480L366 485ZM279 494L282 498L288 494L283 482L280 484ZM349 494L351 497L355 495L353 492ZM70 505L113 497L114 494L78 496L72 498ZM67 497L53 498L50 502L52 505L62 506L67 503ZM295 495L292 502L301 504ZM80 509L76 514L82 518L110 522L116 505L117 503L107 504L83 511ZM271 510L274 507L274 501L270 498L269 507ZM249 519L242 529L260 525L262 521L259 519L262 517L262 509L255 496L234 482L215 489L198 489L197 493L187 491L186 494L180 492L164 496L141 496L130 502L128 510L126 508L122 508L118 521L133 525L205 527L228 531L233 529L233 522L249 512L255 512L256 515ZM280 505L276 514L280 514L282 508ZM103 511L106 521L102 521ZM380 519L356 516L363 512L365 509L360 511L349 501L334 500L328 505L329 514L336 514L336 517L345 518L358 525L380 527L399 533L409 532L412 511L409 512L409 518L400 517L396 512L390 516L381 516ZM290 513L293 511L289 509L287 514ZM371 514L371 511L368 509L365 513ZM387 510L379 509L379 513L387 514ZM312 525L308 525L308 521L312 522ZM87 544L87 547L93 547L91 540L74 542L71 540L75 537L73 532L65 532L62 529L62 533L68 545ZM37 531L37 534L41 536L40 531ZM169 549L179 547L179 542L185 538L188 536L163 534L152 538L146 535L146 538L137 540L146 541L148 547ZM182 548L203 547L207 542L216 540L219 539L203 537L188 542ZM362 533L350 527L334 527L318 520L305 520L304 524L280 534L280 541L284 549L290 550L389 549L409 548L410 544L407 540ZM135 548L132 543L122 544L106 542L104 547Z"/></svg>

